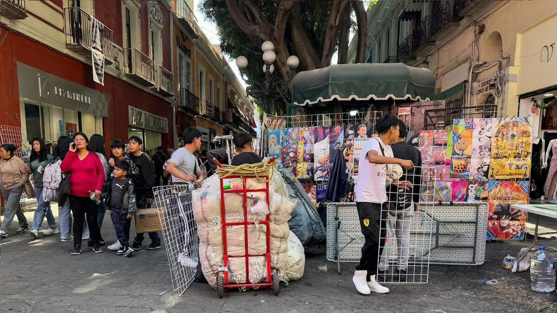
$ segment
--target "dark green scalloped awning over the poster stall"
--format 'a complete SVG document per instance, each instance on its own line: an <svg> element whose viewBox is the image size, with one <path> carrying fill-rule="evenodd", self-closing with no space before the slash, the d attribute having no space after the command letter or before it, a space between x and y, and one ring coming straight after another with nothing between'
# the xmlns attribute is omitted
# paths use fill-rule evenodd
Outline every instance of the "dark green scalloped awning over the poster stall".
<svg viewBox="0 0 557 313"><path fill-rule="evenodd" d="M292 103L320 104L332 100L429 100L435 76L428 69L403 63L337 64L296 75Z"/></svg>

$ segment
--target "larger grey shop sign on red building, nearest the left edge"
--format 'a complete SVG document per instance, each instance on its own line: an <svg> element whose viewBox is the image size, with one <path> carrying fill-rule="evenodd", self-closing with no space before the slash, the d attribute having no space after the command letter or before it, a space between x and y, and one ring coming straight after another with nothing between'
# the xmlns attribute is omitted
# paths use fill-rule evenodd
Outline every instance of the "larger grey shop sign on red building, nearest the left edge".
<svg viewBox="0 0 557 313"><path fill-rule="evenodd" d="M19 62L17 80L19 97L108 118L108 96L99 91Z"/></svg>

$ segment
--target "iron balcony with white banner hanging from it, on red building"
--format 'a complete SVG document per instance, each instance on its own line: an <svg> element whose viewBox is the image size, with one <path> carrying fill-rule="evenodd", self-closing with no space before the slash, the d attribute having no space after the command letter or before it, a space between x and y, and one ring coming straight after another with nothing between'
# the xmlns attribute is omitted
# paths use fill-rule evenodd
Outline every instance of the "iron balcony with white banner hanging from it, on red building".
<svg viewBox="0 0 557 313"><path fill-rule="evenodd" d="M112 41L113 32L91 14L79 7L64 9L64 23L66 29L66 48L86 57L91 57L93 21L101 26L101 51L105 56L105 63L114 63L116 49Z"/></svg>

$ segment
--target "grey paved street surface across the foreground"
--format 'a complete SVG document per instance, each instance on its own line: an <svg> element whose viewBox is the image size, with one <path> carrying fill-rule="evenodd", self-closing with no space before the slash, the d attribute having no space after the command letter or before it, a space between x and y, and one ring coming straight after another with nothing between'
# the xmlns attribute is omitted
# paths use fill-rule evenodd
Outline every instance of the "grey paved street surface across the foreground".
<svg viewBox="0 0 557 313"><path fill-rule="evenodd" d="M32 212L26 214L31 220ZM57 212L55 210L55 216ZM17 228L17 222L12 230ZM113 242L108 215L103 237ZM84 242L85 243L85 242ZM529 272L501 267L519 244L488 244L483 266L431 266L426 285L390 285L385 295L360 296L351 282L354 265L342 275L325 259L324 247L306 251L305 275L268 291L231 292L218 299L207 284L192 283L179 297L172 290L163 249L131 258L84 249L71 256L71 242L57 234L2 239L0 312L556 312L557 292L530 291ZM84 244L85 246L85 244ZM483 278L497 285L482 285ZM9 310L9 309L14 310Z"/></svg>

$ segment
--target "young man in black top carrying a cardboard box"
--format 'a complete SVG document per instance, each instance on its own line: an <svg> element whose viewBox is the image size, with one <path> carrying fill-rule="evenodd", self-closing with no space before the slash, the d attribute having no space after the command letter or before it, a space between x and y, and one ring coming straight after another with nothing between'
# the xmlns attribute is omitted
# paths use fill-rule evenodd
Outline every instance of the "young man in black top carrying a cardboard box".
<svg viewBox="0 0 557 313"><path fill-rule="evenodd" d="M130 149L131 159L139 170L139 177L134 177L133 183L135 187L135 199L138 209L145 209L153 203L153 186L155 185L155 172L153 163L149 156L141 152L143 148L143 140L138 136L131 136L128 142ZM134 251L141 250L141 243L143 242L144 233L138 233L134 238L134 243L131 248ZM148 250L160 248L159 233L149 233L151 244L147 247Z"/></svg>

